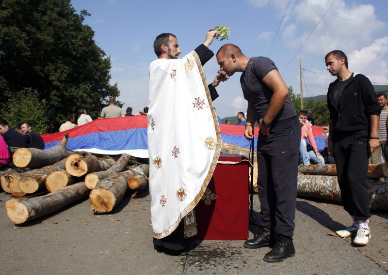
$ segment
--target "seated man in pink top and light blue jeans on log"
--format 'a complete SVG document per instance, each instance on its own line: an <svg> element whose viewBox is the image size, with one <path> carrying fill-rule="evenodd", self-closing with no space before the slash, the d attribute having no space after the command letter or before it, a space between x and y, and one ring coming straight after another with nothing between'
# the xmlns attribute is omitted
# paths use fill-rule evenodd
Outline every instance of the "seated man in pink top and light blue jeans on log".
<svg viewBox="0 0 388 275"><path fill-rule="evenodd" d="M324 164L323 156L318 152L317 144L315 143L314 136L311 130L311 124L307 121L307 111L299 111L299 120L301 122L302 138L300 140L299 154L302 158L303 165L312 164ZM307 152L307 138L313 150Z"/></svg>

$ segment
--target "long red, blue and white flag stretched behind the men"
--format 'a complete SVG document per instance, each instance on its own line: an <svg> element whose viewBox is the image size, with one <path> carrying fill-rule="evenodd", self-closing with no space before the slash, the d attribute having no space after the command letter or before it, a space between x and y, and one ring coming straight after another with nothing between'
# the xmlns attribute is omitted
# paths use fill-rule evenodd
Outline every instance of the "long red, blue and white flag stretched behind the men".
<svg viewBox="0 0 388 275"><path fill-rule="evenodd" d="M323 128L320 126L311 126L311 128L318 151L322 152L325 145L322 136ZM220 124L221 139L223 142L249 149L251 141L244 137L244 129L245 127L241 125ZM68 150L111 155L128 153L136 157L148 158L146 116L96 119L68 131L45 134L42 135L45 141L45 149L61 142L67 132L69 133L69 140L66 145ZM256 150L259 127L254 127L254 133Z"/></svg>

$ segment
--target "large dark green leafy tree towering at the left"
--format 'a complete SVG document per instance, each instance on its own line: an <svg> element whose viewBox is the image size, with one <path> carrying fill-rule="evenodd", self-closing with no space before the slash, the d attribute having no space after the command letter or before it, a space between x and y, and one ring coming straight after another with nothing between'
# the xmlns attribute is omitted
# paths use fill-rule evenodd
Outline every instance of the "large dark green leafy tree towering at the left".
<svg viewBox="0 0 388 275"><path fill-rule="evenodd" d="M92 117L117 97L111 79L111 61L93 40L70 0L0 1L0 103L2 113L10 100L26 88L46 101L45 116L55 129L67 113L85 107ZM40 118L42 121L43 118Z"/></svg>

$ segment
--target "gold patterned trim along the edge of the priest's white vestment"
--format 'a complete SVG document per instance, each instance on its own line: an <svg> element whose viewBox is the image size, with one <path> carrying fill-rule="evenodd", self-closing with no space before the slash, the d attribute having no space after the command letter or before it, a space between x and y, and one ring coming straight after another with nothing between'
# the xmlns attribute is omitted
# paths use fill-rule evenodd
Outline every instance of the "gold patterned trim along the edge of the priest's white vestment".
<svg viewBox="0 0 388 275"><path fill-rule="evenodd" d="M210 164L208 175L206 176L205 180L203 181L201 189L199 190L199 193L195 196L194 200L188 206L186 206L185 209L183 209L183 211L179 214L178 220L169 229L164 230L162 233L152 232L153 237L156 239L162 239L162 238L170 235L175 229L177 229L180 220L184 216L186 216L190 211L192 211L194 209L194 207L197 205L197 203L201 200L203 194L205 193L206 188L208 187L208 183L210 182L210 179L213 176L214 169L217 165L217 161L218 161L218 158L220 157L220 153L221 153L221 145L222 144L221 144L220 126L218 125L217 114L215 113L213 102L211 101L209 87L208 87L208 84L206 83L205 73L203 72L201 61L199 60L197 53L195 51L192 51L191 54L194 56L194 60L197 63L199 74L202 78L202 83L203 83L203 86L205 88L206 96L208 98L211 114L213 116L214 128L215 128L215 133L217 136L215 152L214 152L213 160Z"/></svg>

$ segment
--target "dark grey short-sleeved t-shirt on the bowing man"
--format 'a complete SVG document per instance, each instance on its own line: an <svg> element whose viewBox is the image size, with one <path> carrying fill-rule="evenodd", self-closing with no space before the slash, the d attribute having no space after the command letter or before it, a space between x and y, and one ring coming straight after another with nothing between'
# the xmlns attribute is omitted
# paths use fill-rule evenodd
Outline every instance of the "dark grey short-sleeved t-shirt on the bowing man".
<svg viewBox="0 0 388 275"><path fill-rule="evenodd" d="M252 57L249 59L244 72L240 77L240 83L244 98L250 102L256 111L256 118L259 121L266 114L271 97L274 92L264 84L262 79L272 70L277 70L274 61L266 57ZM288 118L296 116L292 101L287 96L283 107L271 122L275 124Z"/></svg>

